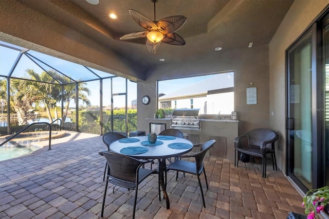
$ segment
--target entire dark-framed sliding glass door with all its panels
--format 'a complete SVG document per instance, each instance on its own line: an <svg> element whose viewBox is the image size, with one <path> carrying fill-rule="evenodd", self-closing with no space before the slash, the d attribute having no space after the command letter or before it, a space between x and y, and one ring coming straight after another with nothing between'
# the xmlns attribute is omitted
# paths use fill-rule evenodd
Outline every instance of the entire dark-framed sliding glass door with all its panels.
<svg viewBox="0 0 329 219"><path fill-rule="evenodd" d="M287 175L329 186L329 12L287 50Z"/></svg>

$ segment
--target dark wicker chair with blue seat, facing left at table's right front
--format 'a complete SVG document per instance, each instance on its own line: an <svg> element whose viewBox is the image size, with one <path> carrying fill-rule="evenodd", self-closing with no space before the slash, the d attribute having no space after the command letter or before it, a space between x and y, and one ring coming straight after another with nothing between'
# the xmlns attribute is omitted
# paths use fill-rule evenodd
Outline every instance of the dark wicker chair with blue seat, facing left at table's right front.
<svg viewBox="0 0 329 219"><path fill-rule="evenodd" d="M195 162L187 161L184 159L175 159L170 165L167 167L167 171L169 170L175 170L176 172L176 180L178 177L178 171L183 172L183 173L190 173L193 175L197 176L197 179L199 181L199 187L202 195L202 201L204 204L204 207L206 208L205 204L205 197L204 197L204 192L202 190L202 185L200 181L200 175L202 172L205 174L205 179L206 179L206 186L208 190L208 181L207 181L207 175L206 171L204 168L204 162L203 159L207 153L207 151L213 147L213 145L216 143L215 140L209 140L205 143L201 144L195 144L193 147L200 147L200 152L194 153L194 154L189 154L189 155L181 155L179 156L180 158L189 158L189 157L194 157ZM166 173L166 184L167 184L167 173Z"/></svg>

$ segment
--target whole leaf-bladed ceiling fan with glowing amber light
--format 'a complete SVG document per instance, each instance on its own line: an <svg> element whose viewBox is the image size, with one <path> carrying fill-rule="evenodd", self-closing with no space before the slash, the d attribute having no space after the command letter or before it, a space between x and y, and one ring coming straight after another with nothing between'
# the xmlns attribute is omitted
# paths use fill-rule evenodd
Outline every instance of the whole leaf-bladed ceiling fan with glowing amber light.
<svg viewBox="0 0 329 219"><path fill-rule="evenodd" d="M146 29L146 31L125 34L121 36L120 40L147 38L146 45L149 51L153 53L155 53L155 50L159 47L161 42L176 46L184 46L186 44L185 40L175 32L185 24L187 18L182 15L177 15L165 17L160 21L156 21L155 3L157 1L158 0L151 0L151 2L154 3L154 21L151 21L147 16L138 11L129 10L134 21L142 28Z"/></svg>

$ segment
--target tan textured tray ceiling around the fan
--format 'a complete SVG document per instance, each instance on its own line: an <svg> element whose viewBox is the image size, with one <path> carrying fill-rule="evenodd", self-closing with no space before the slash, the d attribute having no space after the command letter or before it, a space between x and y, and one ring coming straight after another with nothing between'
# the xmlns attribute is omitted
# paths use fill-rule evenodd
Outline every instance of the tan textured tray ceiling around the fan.
<svg viewBox="0 0 329 219"><path fill-rule="evenodd" d="M189 57L206 58L215 47L223 51L268 44L293 0L158 0L156 20L184 15L187 22L176 33L185 46L162 43L156 54L149 52L145 39L121 41L120 36L143 31L129 14L134 9L154 20L151 0L99 0L91 5L84 0L21 1L71 29L87 35L136 66L153 66L163 58L167 63ZM118 15L117 20L108 17Z"/></svg>

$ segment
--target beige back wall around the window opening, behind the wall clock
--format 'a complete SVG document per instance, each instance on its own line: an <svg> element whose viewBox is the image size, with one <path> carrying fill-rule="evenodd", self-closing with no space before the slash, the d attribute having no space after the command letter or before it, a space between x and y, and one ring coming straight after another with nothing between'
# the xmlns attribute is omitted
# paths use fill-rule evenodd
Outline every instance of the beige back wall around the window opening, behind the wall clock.
<svg viewBox="0 0 329 219"><path fill-rule="evenodd" d="M175 65L162 64L153 70L146 80L137 83L137 98L149 95L151 102L143 105L138 101L137 125L142 129L145 118L153 118L156 111L156 80L181 78L218 71L235 71L235 111L239 118L239 134L256 127L269 126L269 61L268 46L255 46L235 51L222 51L212 59L180 60ZM247 105L246 88L250 82L257 87L255 105Z"/></svg>

